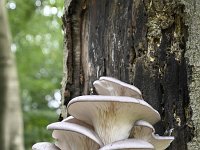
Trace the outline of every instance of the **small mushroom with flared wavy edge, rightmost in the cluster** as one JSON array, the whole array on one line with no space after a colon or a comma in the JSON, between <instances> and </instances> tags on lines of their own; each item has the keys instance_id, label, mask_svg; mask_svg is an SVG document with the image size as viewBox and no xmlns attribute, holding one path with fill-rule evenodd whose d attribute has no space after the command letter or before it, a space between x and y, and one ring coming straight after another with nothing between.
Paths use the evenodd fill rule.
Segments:
<instances>
[{"instance_id":1,"label":"small mushroom with flared wavy edge, rightmost in the cluster","mask_svg":"<svg viewBox=\"0 0 200 150\"><path fill-rule=\"evenodd\" d=\"M172 136L159 136L155 135L154 127L143 120L135 122L131 130L130 138L141 139L151 143L155 150L164 150L174 140Z\"/></svg>"}]
</instances>

